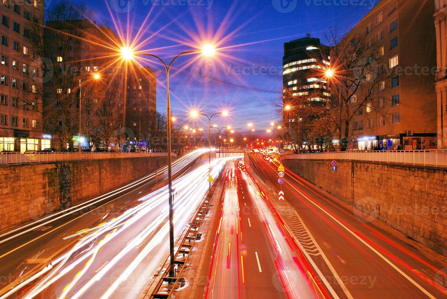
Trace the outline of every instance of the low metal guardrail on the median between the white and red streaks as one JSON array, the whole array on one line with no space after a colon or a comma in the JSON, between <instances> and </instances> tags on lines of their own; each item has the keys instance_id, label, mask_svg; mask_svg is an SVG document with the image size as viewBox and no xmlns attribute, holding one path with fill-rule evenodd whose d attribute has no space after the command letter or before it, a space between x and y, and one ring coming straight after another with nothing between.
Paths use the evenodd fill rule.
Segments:
<instances>
[{"instance_id":1,"label":"low metal guardrail on the median between the white and red streaks","mask_svg":"<svg viewBox=\"0 0 447 299\"><path fill-rule=\"evenodd\" d=\"M207 211L211 202L211 198L214 195L214 192L217 188L217 184L219 183L222 177L222 172L219 173L219 176L211 185L211 190L207 192L205 197L203 198L203 202L198 209L194 219L192 220L186 235L183 237L181 241L181 245L177 250L177 253L174 254L174 276L169 276L170 264L168 264L166 270L160 281L157 283L150 299L167 299L169 298L173 291L175 291L179 286L179 279L181 278L181 273L186 266L186 263L190 257L191 251L194 247L194 243L198 236L198 230L202 226L203 220L207 215ZM169 261L169 258L168 260Z\"/></svg>"}]
</instances>

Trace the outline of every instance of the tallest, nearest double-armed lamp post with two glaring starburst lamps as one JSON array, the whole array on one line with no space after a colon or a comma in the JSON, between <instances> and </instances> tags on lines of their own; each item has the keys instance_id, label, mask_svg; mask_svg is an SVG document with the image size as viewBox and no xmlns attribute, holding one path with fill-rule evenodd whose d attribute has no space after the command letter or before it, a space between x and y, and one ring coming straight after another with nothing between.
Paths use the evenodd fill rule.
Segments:
<instances>
[{"instance_id":1,"label":"tallest, nearest double-armed lamp post with two glaring starburst lamps","mask_svg":"<svg viewBox=\"0 0 447 299\"><path fill-rule=\"evenodd\" d=\"M207 45L203 47L203 49L195 49L191 51L182 52L176 55L169 65L164 63L163 59L158 57L157 55L150 53L142 53L142 52L134 52L130 48L122 47L121 55L125 60L132 59L135 55L143 55L150 56L158 59L164 66L166 70L166 114L167 114L167 136L168 136L168 190L169 190L169 254L170 254L170 267L169 267L169 277L175 277L174 273L174 220L173 220L173 190L172 190L172 144L171 144L171 101L169 94L169 71L171 70L171 66L173 62L182 55L194 54L194 53L202 53L205 56L211 56L215 52L215 48L211 45ZM170 282L169 282L170 285Z\"/></svg>"}]
</instances>

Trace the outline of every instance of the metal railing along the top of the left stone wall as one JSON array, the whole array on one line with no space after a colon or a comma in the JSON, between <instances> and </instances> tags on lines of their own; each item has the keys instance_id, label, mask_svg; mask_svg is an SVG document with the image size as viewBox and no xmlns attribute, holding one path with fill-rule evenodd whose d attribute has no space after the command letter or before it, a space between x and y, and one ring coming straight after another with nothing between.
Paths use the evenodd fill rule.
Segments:
<instances>
[{"instance_id":1,"label":"metal railing along the top of the left stone wall","mask_svg":"<svg viewBox=\"0 0 447 299\"><path fill-rule=\"evenodd\" d=\"M176 154L172 153L174 157ZM27 164L27 163L48 163L67 162L78 160L101 160L101 159L122 159L122 158L150 158L167 157L168 153L127 153L127 152L35 152L0 153L0 164Z\"/></svg>"}]
</instances>

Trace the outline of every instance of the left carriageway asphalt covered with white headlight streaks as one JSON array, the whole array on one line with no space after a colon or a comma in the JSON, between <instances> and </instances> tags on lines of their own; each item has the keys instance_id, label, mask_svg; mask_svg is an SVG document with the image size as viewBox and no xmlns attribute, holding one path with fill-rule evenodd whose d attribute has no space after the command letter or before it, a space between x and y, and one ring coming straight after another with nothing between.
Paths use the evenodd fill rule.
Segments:
<instances>
[{"instance_id":1,"label":"left carriageway asphalt covered with white headlight streaks","mask_svg":"<svg viewBox=\"0 0 447 299\"><path fill-rule=\"evenodd\" d=\"M173 165L176 236L207 190L201 155ZM166 172L0 236L0 298L139 297L168 252L167 187L154 191Z\"/></svg>"}]
</instances>

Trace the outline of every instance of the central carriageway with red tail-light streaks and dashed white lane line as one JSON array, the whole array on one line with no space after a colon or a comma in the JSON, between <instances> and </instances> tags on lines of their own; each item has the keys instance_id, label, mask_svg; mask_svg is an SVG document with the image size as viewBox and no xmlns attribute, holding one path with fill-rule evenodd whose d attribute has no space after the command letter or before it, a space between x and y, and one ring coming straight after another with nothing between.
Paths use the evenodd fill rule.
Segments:
<instances>
[{"instance_id":1,"label":"central carriageway with red tail-light streaks and dashed white lane line","mask_svg":"<svg viewBox=\"0 0 447 299\"><path fill-rule=\"evenodd\" d=\"M324 298L239 161L226 177L205 298Z\"/></svg>"}]
</instances>

